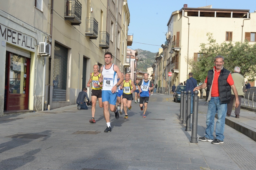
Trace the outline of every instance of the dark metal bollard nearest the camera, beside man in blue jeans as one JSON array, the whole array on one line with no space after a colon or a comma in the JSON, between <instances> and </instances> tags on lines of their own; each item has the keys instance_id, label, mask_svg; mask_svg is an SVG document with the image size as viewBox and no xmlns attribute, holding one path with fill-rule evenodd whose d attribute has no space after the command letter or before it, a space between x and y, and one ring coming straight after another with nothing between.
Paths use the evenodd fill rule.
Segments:
<instances>
[{"instance_id":1,"label":"dark metal bollard nearest the camera, beside man in blue jeans","mask_svg":"<svg viewBox=\"0 0 256 170\"><path fill-rule=\"evenodd\" d=\"M193 116L192 116L192 134L190 143L198 143L197 141L197 119L198 119L198 91L194 91L193 98Z\"/></svg>"}]
</instances>

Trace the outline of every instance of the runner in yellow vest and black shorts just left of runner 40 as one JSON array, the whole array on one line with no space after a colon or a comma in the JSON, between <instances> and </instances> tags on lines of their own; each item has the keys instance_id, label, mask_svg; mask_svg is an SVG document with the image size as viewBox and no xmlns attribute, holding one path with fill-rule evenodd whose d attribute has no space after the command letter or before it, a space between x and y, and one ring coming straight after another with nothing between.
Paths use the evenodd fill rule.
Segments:
<instances>
[{"instance_id":1,"label":"runner in yellow vest and black shorts just left of runner 40","mask_svg":"<svg viewBox=\"0 0 256 170\"><path fill-rule=\"evenodd\" d=\"M92 96L92 118L89 120L90 123L95 123L94 115L95 115L95 107L97 98L99 101L100 108L103 107L102 104L102 98L101 98L101 92L102 92L102 82L99 82L100 78L100 66L98 64L95 64L93 66L93 73L90 74L90 80L87 83L87 87L90 87L90 83L92 82L92 90L91 90L91 96Z\"/></svg>"}]
</instances>

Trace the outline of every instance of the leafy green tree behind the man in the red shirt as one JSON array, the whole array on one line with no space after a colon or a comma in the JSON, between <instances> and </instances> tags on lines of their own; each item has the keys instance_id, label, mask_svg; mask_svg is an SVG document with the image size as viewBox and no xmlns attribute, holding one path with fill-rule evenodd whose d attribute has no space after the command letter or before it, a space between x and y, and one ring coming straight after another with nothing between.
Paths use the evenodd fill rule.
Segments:
<instances>
[{"instance_id":1,"label":"leafy green tree behind the man in the red shirt","mask_svg":"<svg viewBox=\"0 0 256 170\"><path fill-rule=\"evenodd\" d=\"M248 80L255 80L256 77L256 43L249 44L247 40L243 43L229 41L221 44L216 43L212 33L206 34L208 43L200 44L200 57L196 61L190 59L188 64L193 73L193 78L198 83L203 83L207 73L214 66L214 58L217 55L224 57L224 67L233 72L236 66L241 68L240 74Z\"/></svg>"}]
</instances>

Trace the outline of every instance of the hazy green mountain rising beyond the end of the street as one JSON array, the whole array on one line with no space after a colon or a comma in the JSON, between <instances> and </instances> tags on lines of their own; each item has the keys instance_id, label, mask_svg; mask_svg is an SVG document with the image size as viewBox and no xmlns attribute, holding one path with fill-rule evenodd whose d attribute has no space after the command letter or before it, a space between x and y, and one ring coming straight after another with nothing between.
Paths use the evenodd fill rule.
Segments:
<instances>
[{"instance_id":1,"label":"hazy green mountain rising beyond the end of the street","mask_svg":"<svg viewBox=\"0 0 256 170\"><path fill-rule=\"evenodd\" d=\"M154 62L156 62L156 53L152 53L147 50L135 49L138 52L139 61L137 62L138 70L146 72L148 67L151 67ZM143 61L140 61L142 59Z\"/></svg>"}]
</instances>

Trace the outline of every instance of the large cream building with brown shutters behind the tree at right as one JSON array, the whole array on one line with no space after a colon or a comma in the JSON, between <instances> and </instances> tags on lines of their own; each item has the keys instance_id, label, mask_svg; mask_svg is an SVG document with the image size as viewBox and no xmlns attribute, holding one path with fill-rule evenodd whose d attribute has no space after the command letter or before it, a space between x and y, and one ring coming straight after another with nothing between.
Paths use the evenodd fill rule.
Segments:
<instances>
[{"instance_id":1,"label":"large cream building with brown shutters behind the tree at right","mask_svg":"<svg viewBox=\"0 0 256 170\"><path fill-rule=\"evenodd\" d=\"M186 81L190 72L188 59L200 57L200 43L207 43L207 32L213 33L217 43L245 39L255 43L256 13L249 10L213 9L211 5L200 8L183 8L172 12L167 22L170 52L171 84ZM221 29L220 29L221 28ZM170 35L170 38L169 38Z\"/></svg>"}]
</instances>

